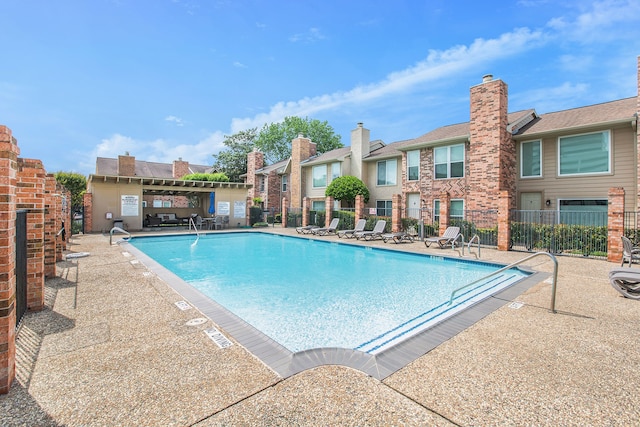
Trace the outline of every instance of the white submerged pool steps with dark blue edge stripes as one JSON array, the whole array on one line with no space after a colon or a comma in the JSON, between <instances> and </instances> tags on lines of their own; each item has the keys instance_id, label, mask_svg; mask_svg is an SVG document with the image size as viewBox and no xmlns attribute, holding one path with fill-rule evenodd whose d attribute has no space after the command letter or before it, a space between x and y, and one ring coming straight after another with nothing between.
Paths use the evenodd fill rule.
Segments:
<instances>
[{"instance_id":1,"label":"white submerged pool steps with dark blue edge stripes","mask_svg":"<svg viewBox=\"0 0 640 427\"><path fill-rule=\"evenodd\" d=\"M453 304L449 305L449 301L446 301L433 309L426 311L365 343L360 344L355 347L354 350L370 354L379 353L397 344L399 341L405 340L418 332L422 332L432 327L444 320L444 318L462 311L463 309L497 293L498 291L509 287L521 278L522 275L514 274L510 271L504 271L500 274L496 274L486 281L478 283L477 286L457 295L453 300Z\"/></svg>"}]
</instances>

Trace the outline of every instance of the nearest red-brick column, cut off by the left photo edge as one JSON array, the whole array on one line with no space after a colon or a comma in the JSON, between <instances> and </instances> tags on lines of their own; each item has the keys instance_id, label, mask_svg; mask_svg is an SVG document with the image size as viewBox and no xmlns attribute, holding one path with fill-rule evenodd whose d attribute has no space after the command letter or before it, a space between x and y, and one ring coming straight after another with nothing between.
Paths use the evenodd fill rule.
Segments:
<instances>
[{"instance_id":1,"label":"nearest red-brick column, cut off by the left photo edge","mask_svg":"<svg viewBox=\"0 0 640 427\"><path fill-rule=\"evenodd\" d=\"M20 154L11 129L0 126L0 394L16 374L16 174Z\"/></svg>"}]
</instances>

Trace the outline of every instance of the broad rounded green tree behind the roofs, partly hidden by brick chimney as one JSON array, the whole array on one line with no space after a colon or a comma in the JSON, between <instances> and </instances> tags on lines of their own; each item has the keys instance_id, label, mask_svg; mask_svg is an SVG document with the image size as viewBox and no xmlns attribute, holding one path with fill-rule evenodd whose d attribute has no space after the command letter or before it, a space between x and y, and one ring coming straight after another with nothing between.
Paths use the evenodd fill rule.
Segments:
<instances>
[{"instance_id":1,"label":"broad rounded green tree behind the roofs, partly hidden by brick chimney","mask_svg":"<svg viewBox=\"0 0 640 427\"><path fill-rule=\"evenodd\" d=\"M258 133L255 145L272 164L291 156L291 140L299 134L316 143L318 154L341 148L340 135L336 135L327 121L300 117L285 117L281 123L264 125Z\"/></svg>"}]
</instances>

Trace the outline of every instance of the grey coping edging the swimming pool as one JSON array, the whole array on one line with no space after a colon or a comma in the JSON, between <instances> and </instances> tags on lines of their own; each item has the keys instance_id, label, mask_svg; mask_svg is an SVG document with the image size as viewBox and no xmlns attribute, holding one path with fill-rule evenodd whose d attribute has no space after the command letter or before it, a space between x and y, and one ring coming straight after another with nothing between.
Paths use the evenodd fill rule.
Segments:
<instances>
[{"instance_id":1,"label":"grey coping edging the swimming pool","mask_svg":"<svg viewBox=\"0 0 640 427\"><path fill-rule=\"evenodd\" d=\"M294 353L195 289L135 246L126 241L120 242L120 244L123 249L142 262L149 271L156 274L193 307L220 326L237 343L283 378L323 365L342 365L357 369L378 380L384 380L487 315L512 302L530 287L550 276L549 273L520 268L531 274L507 288L491 293L465 310L455 313L430 328L376 354L339 347L314 348ZM443 256L443 258L458 259L448 256ZM478 260L478 262L483 261ZM504 266L493 262L491 264Z\"/></svg>"}]
</instances>

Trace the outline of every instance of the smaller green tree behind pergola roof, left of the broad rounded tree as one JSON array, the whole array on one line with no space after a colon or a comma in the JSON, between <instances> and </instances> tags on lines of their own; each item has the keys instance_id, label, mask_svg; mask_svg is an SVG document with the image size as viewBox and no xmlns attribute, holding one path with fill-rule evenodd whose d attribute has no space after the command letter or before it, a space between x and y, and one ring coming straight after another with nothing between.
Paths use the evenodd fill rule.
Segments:
<instances>
[{"instance_id":1,"label":"smaller green tree behind pergola roof, left of the broad rounded tree","mask_svg":"<svg viewBox=\"0 0 640 427\"><path fill-rule=\"evenodd\" d=\"M257 128L225 135L222 142L226 148L214 154L213 167L224 172L231 182L241 182L240 175L247 172L247 154L253 151Z\"/></svg>"}]
</instances>

